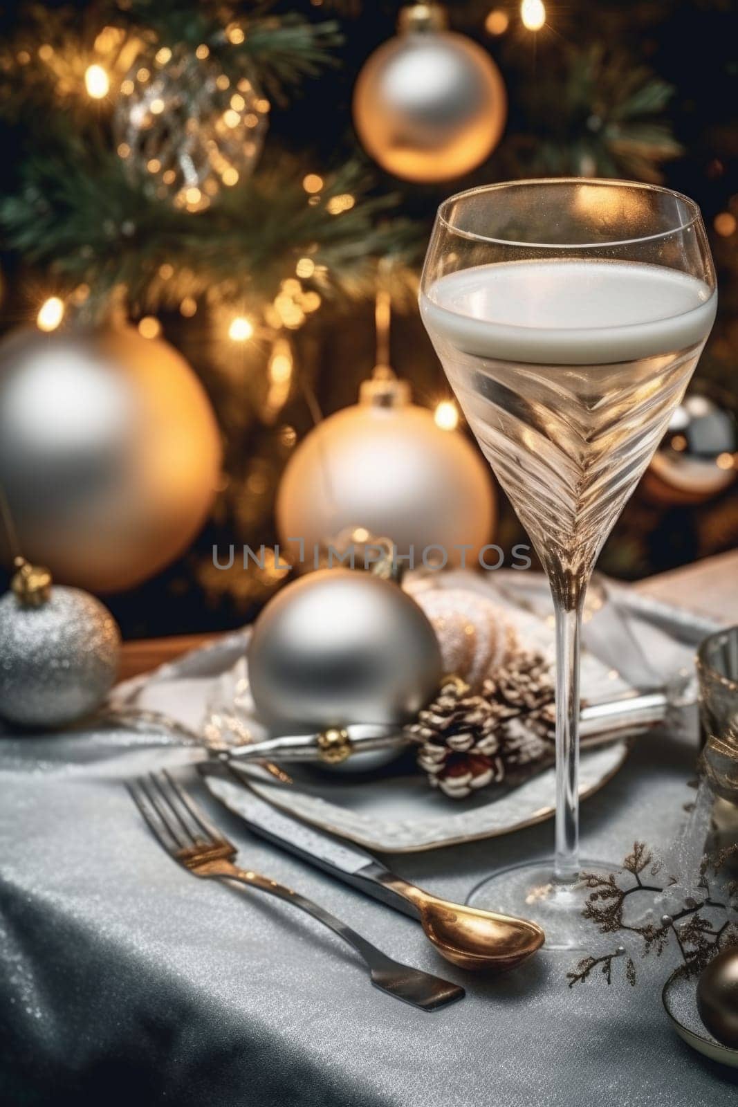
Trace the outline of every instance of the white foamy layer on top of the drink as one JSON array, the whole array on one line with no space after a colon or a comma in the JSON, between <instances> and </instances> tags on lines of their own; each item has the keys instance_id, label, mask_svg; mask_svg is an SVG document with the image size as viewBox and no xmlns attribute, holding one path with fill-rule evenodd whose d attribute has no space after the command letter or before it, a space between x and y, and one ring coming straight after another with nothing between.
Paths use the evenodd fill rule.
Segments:
<instances>
[{"instance_id":1,"label":"white foamy layer on top of the drink","mask_svg":"<svg viewBox=\"0 0 738 1107\"><path fill-rule=\"evenodd\" d=\"M717 294L664 266L615 260L511 261L440 277L420 297L430 334L479 358L612 364L705 340Z\"/></svg>"}]
</instances>

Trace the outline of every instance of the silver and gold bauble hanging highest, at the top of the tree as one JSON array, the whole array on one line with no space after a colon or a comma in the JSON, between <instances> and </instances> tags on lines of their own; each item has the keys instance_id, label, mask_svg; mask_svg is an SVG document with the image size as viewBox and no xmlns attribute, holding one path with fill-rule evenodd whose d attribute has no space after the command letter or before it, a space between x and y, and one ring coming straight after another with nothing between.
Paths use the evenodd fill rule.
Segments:
<instances>
[{"instance_id":1,"label":"silver and gold bauble hanging highest, at the top of the tree","mask_svg":"<svg viewBox=\"0 0 738 1107\"><path fill-rule=\"evenodd\" d=\"M434 4L401 14L401 34L365 63L354 124L366 152L405 180L449 180L495 149L507 117L497 65L481 46L443 28Z\"/></svg>"}]
</instances>

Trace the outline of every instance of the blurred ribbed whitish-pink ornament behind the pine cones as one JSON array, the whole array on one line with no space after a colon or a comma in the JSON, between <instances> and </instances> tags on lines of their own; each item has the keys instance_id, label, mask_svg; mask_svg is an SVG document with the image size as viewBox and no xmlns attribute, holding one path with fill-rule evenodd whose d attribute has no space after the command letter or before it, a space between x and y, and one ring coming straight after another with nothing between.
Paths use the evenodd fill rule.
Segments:
<instances>
[{"instance_id":1,"label":"blurred ribbed whitish-pink ornament behind the pine cones","mask_svg":"<svg viewBox=\"0 0 738 1107\"><path fill-rule=\"evenodd\" d=\"M487 597L462 588L412 590L438 638L444 672L478 687L516 645L512 627Z\"/></svg>"}]
</instances>

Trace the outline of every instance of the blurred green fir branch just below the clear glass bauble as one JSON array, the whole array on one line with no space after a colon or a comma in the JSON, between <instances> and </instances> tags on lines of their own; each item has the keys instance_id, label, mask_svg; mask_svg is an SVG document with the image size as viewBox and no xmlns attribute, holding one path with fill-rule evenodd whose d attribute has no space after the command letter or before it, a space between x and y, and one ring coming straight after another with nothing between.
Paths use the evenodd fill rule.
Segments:
<instances>
[{"instance_id":1,"label":"blurred green fir branch just below the clear glass bauble","mask_svg":"<svg viewBox=\"0 0 738 1107\"><path fill-rule=\"evenodd\" d=\"M388 218L392 197L365 198L357 165L326 177L316 204L302 187L303 168L281 155L193 214L149 199L117 155L67 135L54 154L24 163L18 192L0 200L0 229L66 289L87 284L92 315L115 290L134 309L174 306L184 294L258 304L301 257L312 261L310 282L322 296L363 296L375 283L374 259L410 258L416 231ZM163 280L165 265L179 278Z\"/></svg>"}]
</instances>

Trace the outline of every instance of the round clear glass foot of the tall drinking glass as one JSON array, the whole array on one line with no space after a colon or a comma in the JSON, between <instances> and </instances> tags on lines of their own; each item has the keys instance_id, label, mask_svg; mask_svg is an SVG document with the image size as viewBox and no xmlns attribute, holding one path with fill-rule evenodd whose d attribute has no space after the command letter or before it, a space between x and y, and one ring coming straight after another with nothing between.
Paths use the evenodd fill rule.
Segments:
<instances>
[{"instance_id":1,"label":"round clear glass foot of the tall drinking glass","mask_svg":"<svg viewBox=\"0 0 738 1107\"><path fill-rule=\"evenodd\" d=\"M620 865L607 861L580 861L582 872L620 872ZM558 880L553 860L532 861L500 869L472 888L469 907L537 922L545 933L547 950L589 950L596 929L582 918L588 889L576 878Z\"/></svg>"}]
</instances>

